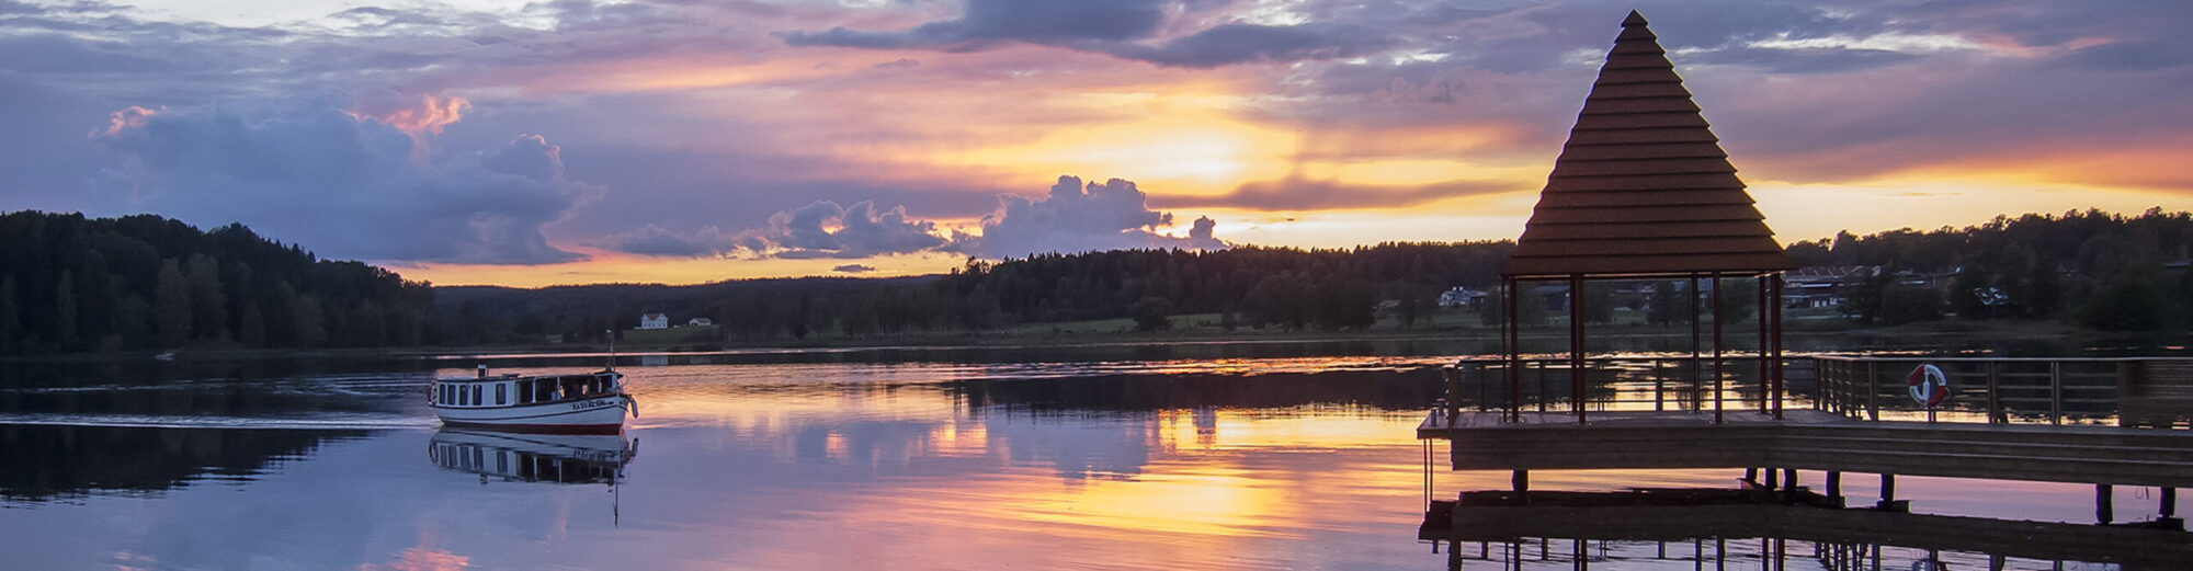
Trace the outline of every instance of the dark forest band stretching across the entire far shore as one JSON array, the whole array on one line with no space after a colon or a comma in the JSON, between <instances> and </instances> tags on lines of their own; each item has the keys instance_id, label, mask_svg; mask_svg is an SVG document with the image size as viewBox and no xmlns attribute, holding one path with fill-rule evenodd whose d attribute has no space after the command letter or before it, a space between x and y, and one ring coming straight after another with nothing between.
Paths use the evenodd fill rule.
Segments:
<instances>
[{"instance_id":1,"label":"dark forest band stretching across the entire far shore","mask_svg":"<svg viewBox=\"0 0 2193 571\"><path fill-rule=\"evenodd\" d=\"M1443 290L1491 290L1513 250L1511 242L1105 250L967 259L930 277L518 290L434 288L360 261L318 259L239 224L202 233L158 215L9 213L0 237L0 354L601 343L605 332L636 327L645 312L717 323L680 338L695 347L1099 318L1162 329L1178 314L1213 314L1226 329L1412 327L1439 310ZM2193 318L2189 248L2193 217L2156 209L1838 233L1794 242L1787 253L1803 268L1862 268L1838 286L1840 312L1853 323L2029 318L2136 332ZM1678 288L1651 290L1651 323L1686 318L1669 310L1686 305ZM1610 318L1610 292L1588 283L1586 307L1601 307L1588 318ZM1548 318L1539 299L1524 301L1526 323Z\"/></svg>"}]
</instances>

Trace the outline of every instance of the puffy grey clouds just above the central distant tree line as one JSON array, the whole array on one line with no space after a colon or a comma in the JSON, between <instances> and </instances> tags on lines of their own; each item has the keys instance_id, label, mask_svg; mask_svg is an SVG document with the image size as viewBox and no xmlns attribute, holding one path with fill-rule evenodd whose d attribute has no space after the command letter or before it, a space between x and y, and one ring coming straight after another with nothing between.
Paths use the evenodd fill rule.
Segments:
<instances>
[{"instance_id":1,"label":"puffy grey clouds just above the central distant tree line","mask_svg":"<svg viewBox=\"0 0 2193 571\"><path fill-rule=\"evenodd\" d=\"M1039 198L1000 195L998 211L982 217L982 233L943 235L936 222L910 220L906 206L877 209L873 202L838 206L829 200L770 215L770 224L739 233L717 226L673 233L643 226L592 246L660 257L757 255L779 259L860 259L906 253L958 253L974 257L1026 257L1035 253L1086 253L1118 248L1219 250L1211 217L1200 217L1186 237L1160 235L1171 213L1151 211L1149 195L1127 180L1088 182L1059 176ZM866 272L838 266L838 272ZM868 268L873 270L873 268Z\"/></svg>"}]
</instances>

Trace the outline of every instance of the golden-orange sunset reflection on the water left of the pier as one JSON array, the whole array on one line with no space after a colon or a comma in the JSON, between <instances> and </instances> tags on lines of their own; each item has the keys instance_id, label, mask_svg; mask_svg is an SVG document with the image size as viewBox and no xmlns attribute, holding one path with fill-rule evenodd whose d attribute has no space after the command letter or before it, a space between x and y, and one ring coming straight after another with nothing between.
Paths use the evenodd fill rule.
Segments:
<instances>
[{"instance_id":1,"label":"golden-orange sunset reflection on the water left of the pier","mask_svg":"<svg viewBox=\"0 0 2193 571\"><path fill-rule=\"evenodd\" d=\"M1195 369L1226 367L1250 365ZM728 428L781 463L917 466L914 474L800 492L794 518L741 529L759 536L721 558L785 569L969 569L985 567L969 560L980 553L1015 567L1270 567L1243 542L1360 531L1366 512L1421 518L1412 411L1029 411L974 406L939 382L787 382L649 376L634 380L634 393L649 411L643 422ZM919 435L890 444L877 426ZM814 439L820 457L803 446ZM1077 446L1103 450L1077 457ZM1114 452L1125 459L1105 457ZM950 461L985 468L936 477L919 468Z\"/></svg>"}]
</instances>

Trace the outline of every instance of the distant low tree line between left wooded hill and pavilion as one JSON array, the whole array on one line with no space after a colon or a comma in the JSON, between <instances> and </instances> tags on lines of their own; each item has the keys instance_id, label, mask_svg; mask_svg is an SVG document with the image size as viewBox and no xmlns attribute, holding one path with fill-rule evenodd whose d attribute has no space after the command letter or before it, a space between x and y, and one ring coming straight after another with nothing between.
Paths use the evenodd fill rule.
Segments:
<instances>
[{"instance_id":1,"label":"distant low tree line between left wooded hill and pavilion","mask_svg":"<svg viewBox=\"0 0 2193 571\"><path fill-rule=\"evenodd\" d=\"M1377 244L1347 250L1105 250L969 259L947 275L897 279L741 279L704 286L439 288L436 314L452 345L603 340L643 312L706 316L715 336L689 343L768 343L816 336L875 338L976 332L1024 323L1219 314L1228 327L1360 329L1375 307L1428 318L1452 283L1498 281L1509 242Z\"/></svg>"}]
</instances>

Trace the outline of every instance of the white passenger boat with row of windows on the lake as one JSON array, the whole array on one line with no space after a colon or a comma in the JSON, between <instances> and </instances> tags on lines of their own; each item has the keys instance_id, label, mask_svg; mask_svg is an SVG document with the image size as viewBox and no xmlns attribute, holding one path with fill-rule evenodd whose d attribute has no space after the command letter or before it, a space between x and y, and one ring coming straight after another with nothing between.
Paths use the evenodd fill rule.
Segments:
<instances>
[{"instance_id":1,"label":"white passenger boat with row of windows on the lake","mask_svg":"<svg viewBox=\"0 0 2193 571\"><path fill-rule=\"evenodd\" d=\"M625 376L614 369L572 376L439 378L428 389L428 406L447 426L480 426L544 433L616 433L625 415L640 415L625 393Z\"/></svg>"}]
</instances>

